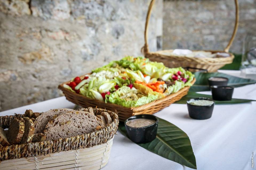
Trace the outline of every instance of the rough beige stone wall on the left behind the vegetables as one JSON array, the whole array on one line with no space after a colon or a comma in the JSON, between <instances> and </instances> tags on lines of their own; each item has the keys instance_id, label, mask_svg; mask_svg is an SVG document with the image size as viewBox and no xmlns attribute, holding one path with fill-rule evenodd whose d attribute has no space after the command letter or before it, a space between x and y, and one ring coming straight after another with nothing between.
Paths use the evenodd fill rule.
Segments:
<instances>
[{"instance_id":1,"label":"rough beige stone wall on the left behind the vegetables","mask_svg":"<svg viewBox=\"0 0 256 170\"><path fill-rule=\"evenodd\" d=\"M142 55L149 2L1 0L0 111L61 96L58 84ZM156 50L162 1L153 14L149 42Z\"/></svg>"}]
</instances>

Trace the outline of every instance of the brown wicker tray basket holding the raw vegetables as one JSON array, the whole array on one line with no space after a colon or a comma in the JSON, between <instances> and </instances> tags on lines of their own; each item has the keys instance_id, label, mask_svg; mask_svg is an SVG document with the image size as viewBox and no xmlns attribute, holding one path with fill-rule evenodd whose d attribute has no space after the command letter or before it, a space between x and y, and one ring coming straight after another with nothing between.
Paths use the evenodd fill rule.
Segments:
<instances>
[{"instance_id":1,"label":"brown wicker tray basket holding the raw vegetables","mask_svg":"<svg viewBox=\"0 0 256 170\"><path fill-rule=\"evenodd\" d=\"M84 76L81 76L80 78L83 79ZM189 91L189 88L190 88L190 86L186 86L181 90L179 90L178 92L170 94L165 98L154 100L150 103L143 104L138 107L127 108L127 107L123 107L121 105L117 105L113 103L105 103L104 101L101 101L101 100L92 99L92 98L85 97L83 95L71 92L70 90L63 87L63 85L67 83L70 83L70 82L62 83L58 87L60 90L62 90L67 100L77 105L80 105L82 107L97 107L97 108L107 109L113 112L117 111L118 118L120 121L125 121L127 118L137 114L154 114L162 110L163 108L169 106L170 104L174 103L175 101L180 100L183 96L187 95L187 92ZM195 83L195 78L191 82L191 84L194 84L194 83Z\"/></svg>"}]
</instances>

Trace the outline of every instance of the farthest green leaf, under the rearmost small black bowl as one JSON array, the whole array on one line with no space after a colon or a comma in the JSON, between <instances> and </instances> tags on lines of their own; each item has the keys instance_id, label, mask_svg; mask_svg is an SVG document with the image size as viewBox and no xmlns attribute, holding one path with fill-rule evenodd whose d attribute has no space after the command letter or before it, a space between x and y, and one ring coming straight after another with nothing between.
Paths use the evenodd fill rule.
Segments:
<instances>
[{"instance_id":1,"label":"farthest green leaf, under the rearmost small black bowl","mask_svg":"<svg viewBox=\"0 0 256 170\"><path fill-rule=\"evenodd\" d=\"M224 74L224 73L196 72L194 74L195 74L196 82L193 86L190 87L190 89L189 89L190 92L210 91L210 88L208 85L208 78L213 77L213 76L228 78L229 79L228 85L233 86L233 87L241 87L241 86L245 86L248 84L256 83L256 80L239 78L239 77L235 77L235 76Z\"/></svg>"}]
</instances>

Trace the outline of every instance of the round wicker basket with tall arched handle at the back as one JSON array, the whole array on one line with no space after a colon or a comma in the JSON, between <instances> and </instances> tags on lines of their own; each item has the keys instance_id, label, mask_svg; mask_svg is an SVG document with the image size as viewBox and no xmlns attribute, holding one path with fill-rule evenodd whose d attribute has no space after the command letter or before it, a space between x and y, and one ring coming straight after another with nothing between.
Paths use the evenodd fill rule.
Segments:
<instances>
[{"instance_id":1,"label":"round wicker basket with tall arched handle at the back","mask_svg":"<svg viewBox=\"0 0 256 170\"><path fill-rule=\"evenodd\" d=\"M237 32L238 28L238 20L239 20L239 10L238 10L238 0L235 1L235 26L234 31L232 34L231 39L229 40L228 45L224 49L224 51L212 51L212 50L206 50L208 52L217 53L217 52L229 52L229 48L231 44L234 41L235 34ZM148 47L148 24L149 19L151 15L151 9L154 4L155 0L152 0L149 5L149 9L147 12L147 18L146 18L146 24L145 24L145 45L142 47L142 51L145 55L145 57L149 58L151 61L157 61L157 62L163 62L165 66L174 68L174 67L194 67L198 69L206 69L208 72L216 72L221 67L225 66L226 64L232 63L234 59L234 55L232 53L229 53L229 57L222 57L222 58L196 58L196 57L177 57L177 56L171 56L168 53L171 53L173 50L162 50L157 52L149 52Z\"/></svg>"}]
</instances>

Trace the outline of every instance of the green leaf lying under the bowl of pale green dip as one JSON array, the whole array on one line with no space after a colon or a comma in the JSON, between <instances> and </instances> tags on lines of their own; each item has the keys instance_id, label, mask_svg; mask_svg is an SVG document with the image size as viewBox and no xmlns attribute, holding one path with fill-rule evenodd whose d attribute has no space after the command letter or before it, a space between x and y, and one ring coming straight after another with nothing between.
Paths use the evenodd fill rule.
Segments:
<instances>
[{"instance_id":1,"label":"green leaf lying under the bowl of pale green dip","mask_svg":"<svg viewBox=\"0 0 256 170\"><path fill-rule=\"evenodd\" d=\"M186 96L182 97L181 100L176 101L175 103L176 104L186 104L187 100L198 98L198 97L206 97L206 98L212 99L211 95L199 94L199 93L195 93L195 92L188 92L188 94ZM232 99L229 101L218 101L218 100L214 100L214 101L215 101L215 104L239 104L239 103L247 103L247 102L256 101L256 100Z\"/></svg>"}]
</instances>

